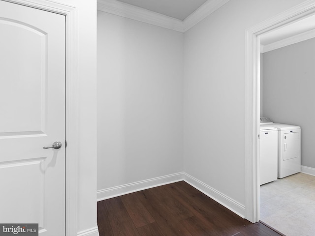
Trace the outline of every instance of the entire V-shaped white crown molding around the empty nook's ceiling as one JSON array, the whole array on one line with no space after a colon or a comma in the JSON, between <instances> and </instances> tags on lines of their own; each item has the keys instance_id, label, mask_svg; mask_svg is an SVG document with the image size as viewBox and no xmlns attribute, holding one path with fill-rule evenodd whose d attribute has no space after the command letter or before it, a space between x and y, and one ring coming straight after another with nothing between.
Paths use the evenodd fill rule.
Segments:
<instances>
[{"instance_id":1,"label":"entire V-shaped white crown molding around the empty nook's ceiling","mask_svg":"<svg viewBox=\"0 0 315 236\"><path fill-rule=\"evenodd\" d=\"M208 0L184 21L117 0L97 0L97 10L184 33L228 1Z\"/></svg>"}]
</instances>

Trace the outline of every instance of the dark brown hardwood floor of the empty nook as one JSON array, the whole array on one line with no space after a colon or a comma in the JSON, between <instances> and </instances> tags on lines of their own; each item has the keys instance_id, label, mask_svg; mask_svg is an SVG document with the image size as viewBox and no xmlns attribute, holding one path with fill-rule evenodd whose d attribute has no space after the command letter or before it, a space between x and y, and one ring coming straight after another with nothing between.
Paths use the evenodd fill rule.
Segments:
<instances>
[{"instance_id":1,"label":"dark brown hardwood floor of the empty nook","mask_svg":"<svg viewBox=\"0 0 315 236\"><path fill-rule=\"evenodd\" d=\"M100 201L97 224L99 236L281 236L184 181Z\"/></svg>"}]
</instances>

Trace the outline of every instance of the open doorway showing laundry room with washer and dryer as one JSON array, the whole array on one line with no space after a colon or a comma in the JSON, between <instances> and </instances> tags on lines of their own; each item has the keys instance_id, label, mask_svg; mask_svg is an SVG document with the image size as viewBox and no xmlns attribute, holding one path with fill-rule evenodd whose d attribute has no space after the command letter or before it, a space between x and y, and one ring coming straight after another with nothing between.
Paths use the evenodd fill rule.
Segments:
<instances>
[{"instance_id":1,"label":"open doorway showing laundry room with washer and dryer","mask_svg":"<svg viewBox=\"0 0 315 236\"><path fill-rule=\"evenodd\" d=\"M306 220L315 217L315 176L301 166L312 167L313 156L309 132L315 128L311 119L315 99L314 22L315 16L310 16L260 36L260 117L273 121L260 125L260 221L287 236L313 235L315 231ZM283 35L287 38L282 39ZM269 39L268 43L268 38L280 41ZM289 136L295 137L293 142Z\"/></svg>"}]
</instances>

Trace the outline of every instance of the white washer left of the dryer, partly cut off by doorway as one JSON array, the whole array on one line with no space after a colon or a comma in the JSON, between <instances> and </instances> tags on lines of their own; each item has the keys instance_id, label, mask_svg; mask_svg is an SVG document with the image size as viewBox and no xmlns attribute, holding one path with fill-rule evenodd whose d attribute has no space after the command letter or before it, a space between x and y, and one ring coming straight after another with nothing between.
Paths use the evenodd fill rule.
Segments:
<instances>
[{"instance_id":1,"label":"white washer left of the dryer, partly cut off by doorway","mask_svg":"<svg viewBox=\"0 0 315 236\"><path fill-rule=\"evenodd\" d=\"M275 181L278 177L278 129L271 124L270 118L260 119L260 185Z\"/></svg>"}]
</instances>

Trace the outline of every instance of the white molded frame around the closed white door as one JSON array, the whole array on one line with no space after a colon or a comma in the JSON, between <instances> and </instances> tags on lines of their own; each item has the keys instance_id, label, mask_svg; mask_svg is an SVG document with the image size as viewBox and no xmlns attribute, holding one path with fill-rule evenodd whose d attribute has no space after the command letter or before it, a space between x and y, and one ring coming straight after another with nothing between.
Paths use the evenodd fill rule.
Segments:
<instances>
[{"instance_id":1,"label":"white molded frame around the closed white door","mask_svg":"<svg viewBox=\"0 0 315 236\"><path fill-rule=\"evenodd\" d=\"M76 7L48 0L3 0L24 6L58 13L65 16L66 24L66 118L65 118L65 235L77 235L77 204L78 204L78 148L77 130L79 94L77 79L77 9Z\"/></svg>"}]
</instances>

